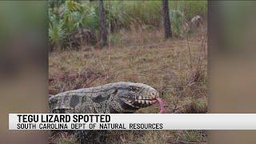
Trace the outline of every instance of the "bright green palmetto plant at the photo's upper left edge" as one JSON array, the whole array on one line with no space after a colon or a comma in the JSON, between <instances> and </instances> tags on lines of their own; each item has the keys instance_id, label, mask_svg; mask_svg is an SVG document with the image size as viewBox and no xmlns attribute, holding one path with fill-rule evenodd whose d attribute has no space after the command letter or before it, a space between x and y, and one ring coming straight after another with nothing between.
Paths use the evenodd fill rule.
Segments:
<instances>
[{"instance_id":1,"label":"bright green palmetto plant at the photo's upper left edge","mask_svg":"<svg viewBox=\"0 0 256 144\"><path fill-rule=\"evenodd\" d=\"M57 10L57 12L56 12ZM67 34L83 26L83 7L80 3L66 1L49 9L49 38L54 48L60 48Z\"/></svg>"}]
</instances>

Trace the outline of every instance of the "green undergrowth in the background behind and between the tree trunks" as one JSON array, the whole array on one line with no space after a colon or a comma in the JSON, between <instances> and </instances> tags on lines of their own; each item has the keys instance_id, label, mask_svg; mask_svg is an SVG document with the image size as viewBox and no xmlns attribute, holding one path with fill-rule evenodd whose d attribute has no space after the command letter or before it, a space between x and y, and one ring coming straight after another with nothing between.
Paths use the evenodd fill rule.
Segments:
<instances>
[{"instance_id":1,"label":"green undergrowth in the background behind and between the tree trunks","mask_svg":"<svg viewBox=\"0 0 256 144\"><path fill-rule=\"evenodd\" d=\"M154 29L162 26L162 1L104 1L108 41L117 42L120 30ZM184 26L200 15L206 19L206 1L170 1L170 20L175 37L183 37ZM64 39L78 29L88 29L98 37L98 1L49 1L50 46L60 49Z\"/></svg>"}]
</instances>

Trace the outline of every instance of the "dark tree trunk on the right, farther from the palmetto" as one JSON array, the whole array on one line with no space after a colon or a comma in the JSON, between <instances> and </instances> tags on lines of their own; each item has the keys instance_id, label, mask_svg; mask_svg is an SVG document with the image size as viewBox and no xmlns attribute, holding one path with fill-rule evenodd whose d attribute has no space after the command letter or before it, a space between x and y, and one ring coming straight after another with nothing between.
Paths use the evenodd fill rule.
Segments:
<instances>
[{"instance_id":1,"label":"dark tree trunk on the right, farther from the palmetto","mask_svg":"<svg viewBox=\"0 0 256 144\"><path fill-rule=\"evenodd\" d=\"M170 14L168 0L162 0L162 16L163 16L163 26L165 29L165 38L172 37L172 32L170 28Z\"/></svg>"}]
</instances>

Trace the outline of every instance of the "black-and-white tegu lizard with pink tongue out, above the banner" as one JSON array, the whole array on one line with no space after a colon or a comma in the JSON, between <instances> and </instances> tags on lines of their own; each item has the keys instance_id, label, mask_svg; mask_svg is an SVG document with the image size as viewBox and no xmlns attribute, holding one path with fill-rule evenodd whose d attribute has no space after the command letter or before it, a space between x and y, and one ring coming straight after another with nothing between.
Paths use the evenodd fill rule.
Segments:
<instances>
[{"instance_id":1,"label":"black-and-white tegu lizard with pink tongue out, above the banner","mask_svg":"<svg viewBox=\"0 0 256 144\"><path fill-rule=\"evenodd\" d=\"M159 102L158 91L151 86L134 82L116 82L103 86L70 90L49 98L50 113L122 114Z\"/></svg>"}]
</instances>

